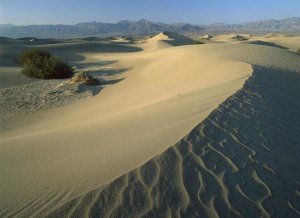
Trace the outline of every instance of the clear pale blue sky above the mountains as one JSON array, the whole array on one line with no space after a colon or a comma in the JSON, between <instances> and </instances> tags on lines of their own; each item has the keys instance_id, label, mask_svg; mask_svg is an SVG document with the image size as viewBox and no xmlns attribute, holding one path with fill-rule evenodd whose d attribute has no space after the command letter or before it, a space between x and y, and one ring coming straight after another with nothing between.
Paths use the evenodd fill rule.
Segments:
<instances>
[{"instance_id":1,"label":"clear pale blue sky above the mountains","mask_svg":"<svg viewBox=\"0 0 300 218\"><path fill-rule=\"evenodd\" d=\"M300 0L0 0L0 23L76 24L147 19L242 23L300 17Z\"/></svg>"}]
</instances>

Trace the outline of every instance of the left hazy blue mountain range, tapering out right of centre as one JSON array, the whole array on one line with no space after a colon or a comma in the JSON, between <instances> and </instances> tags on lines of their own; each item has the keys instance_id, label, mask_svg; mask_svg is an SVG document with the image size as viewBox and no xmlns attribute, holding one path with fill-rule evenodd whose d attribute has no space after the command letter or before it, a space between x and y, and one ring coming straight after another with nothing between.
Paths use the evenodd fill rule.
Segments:
<instances>
[{"instance_id":1,"label":"left hazy blue mountain range, tapering out right of centre","mask_svg":"<svg viewBox=\"0 0 300 218\"><path fill-rule=\"evenodd\" d=\"M20 38L73 38L84 36L147 35L162 31L184 32L201 31L200 26L190 24L172 25L155 23L148 20L120 21L116 24L85 22L75 25L0 25L0 36Z\"/></svg>"}]
</instances>

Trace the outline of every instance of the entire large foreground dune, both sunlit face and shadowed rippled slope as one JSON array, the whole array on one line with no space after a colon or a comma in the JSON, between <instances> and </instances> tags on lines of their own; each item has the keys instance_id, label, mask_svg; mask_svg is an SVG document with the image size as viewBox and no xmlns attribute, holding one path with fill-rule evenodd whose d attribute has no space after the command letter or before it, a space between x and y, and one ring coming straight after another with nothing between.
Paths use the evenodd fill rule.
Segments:
<instances>
[{"instance_id":1,"label":"entire large foreground dune, both sunlit face and shadowed rippled slope","mask_svg":"<svg viewBox=\"0 0 300 218\"><path fill-rule=\"evenodd\" d=\"M81 46L123 79L1 126L2 216L299 216L299 56L168 40Z\"/></svg>"}]
</instances>

